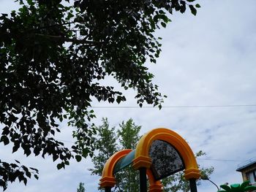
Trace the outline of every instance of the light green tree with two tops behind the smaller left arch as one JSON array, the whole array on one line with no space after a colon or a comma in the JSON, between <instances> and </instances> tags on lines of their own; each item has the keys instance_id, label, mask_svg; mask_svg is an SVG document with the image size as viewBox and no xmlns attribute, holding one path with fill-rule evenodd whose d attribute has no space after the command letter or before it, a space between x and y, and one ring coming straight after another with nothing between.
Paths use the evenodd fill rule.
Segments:
<instances>
[{"instance_id":1,"label":"light green tree with two tops behind the smaller left arch","mask_svg":"<svg viewBox=\"0 0 256 192\"><path fill-rule=\"evenodd\" d=\"M132 119L124 121L119 124L119 129L115 127L109 128L107 118L102 119L102 126L97 127L99 134L97 135L97 151L98 153L92 158L94 164L93 169L89 169L91 174L102 175L102 169L105 162L110 158L111 155L122 149L134 149L139 137L140 126L136 126ZM124 170L116 173L117 184L114 191L129 191L137 192L139 177L138 172L135 172L132 167L127 167ZM102 190L103 191L103 190Z\"/></svg>"}]
</instances>

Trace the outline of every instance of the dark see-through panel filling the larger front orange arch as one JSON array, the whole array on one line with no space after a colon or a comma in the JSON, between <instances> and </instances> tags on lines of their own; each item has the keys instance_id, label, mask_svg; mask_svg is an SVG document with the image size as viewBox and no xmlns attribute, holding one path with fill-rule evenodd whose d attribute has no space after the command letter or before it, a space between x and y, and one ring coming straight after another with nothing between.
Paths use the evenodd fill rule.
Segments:
<instances>
[{"instance_id":1,"label":"dark see-through panel filling the larger front orange arch","mask_svg":"<svg viewBox=\"0 0 256 192\"><path fill-rule=\"evenodd\" d=\"M154 140L149 150L152 159L151 170L155 180L184 169L184 163L177 150L168 142Z\"/></svg>"}]
</instances>

